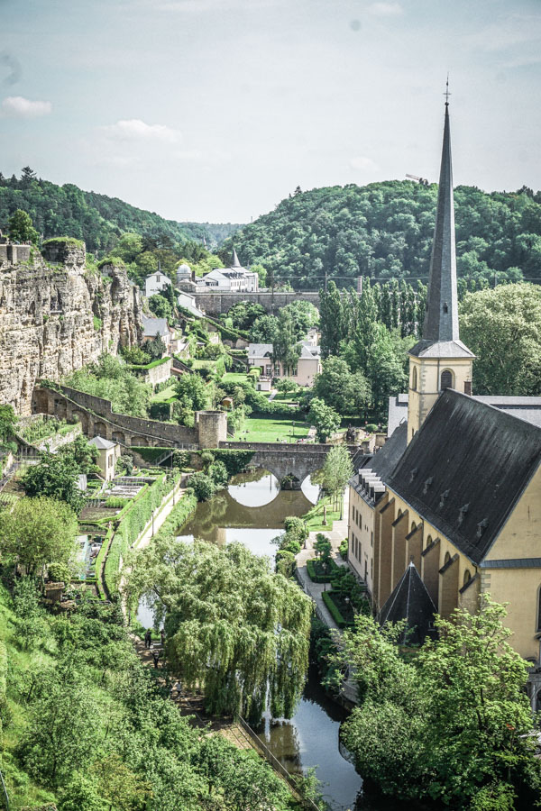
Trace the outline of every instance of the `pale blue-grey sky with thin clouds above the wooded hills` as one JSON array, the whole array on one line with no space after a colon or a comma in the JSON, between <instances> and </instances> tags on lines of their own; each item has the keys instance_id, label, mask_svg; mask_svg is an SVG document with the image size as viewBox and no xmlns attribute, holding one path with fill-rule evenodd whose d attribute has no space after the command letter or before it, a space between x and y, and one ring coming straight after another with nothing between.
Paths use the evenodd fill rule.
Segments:
<instances>
[{"instance_id":1,"label":"pale blue-grey sky with thin clouds above the wooded hills","mask_svg":"<svg viewBox=\"0 0 541 811\"><path fill-rule=\"evenodd\" d=\"M300 186L541 188L541 0L0 0L0 171L179 221Z\"/></svg>"}]
</instances>

